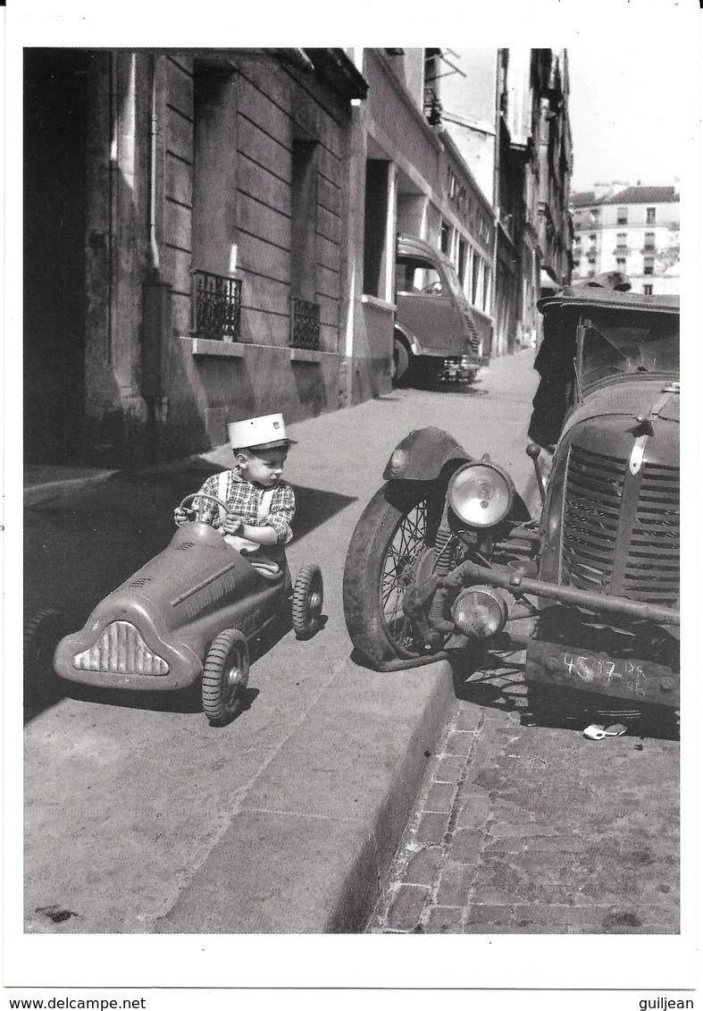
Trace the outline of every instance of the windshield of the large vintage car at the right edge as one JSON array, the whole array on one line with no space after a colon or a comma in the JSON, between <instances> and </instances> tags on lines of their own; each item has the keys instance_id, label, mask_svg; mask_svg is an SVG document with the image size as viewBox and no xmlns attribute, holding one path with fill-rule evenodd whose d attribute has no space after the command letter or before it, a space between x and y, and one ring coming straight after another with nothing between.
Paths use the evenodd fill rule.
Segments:
<instances>
[{"instance_id":1,"label":"windshield of the large vintage car at the right edge","mask_svg":"<svg viewBox=\"0 0 703 1011\"><path fill-rule=\"evenodd\" d=\"M645 372L679 373L679 317L591 312L582 318L581 382Z\"/></svg>"}]
</instances>

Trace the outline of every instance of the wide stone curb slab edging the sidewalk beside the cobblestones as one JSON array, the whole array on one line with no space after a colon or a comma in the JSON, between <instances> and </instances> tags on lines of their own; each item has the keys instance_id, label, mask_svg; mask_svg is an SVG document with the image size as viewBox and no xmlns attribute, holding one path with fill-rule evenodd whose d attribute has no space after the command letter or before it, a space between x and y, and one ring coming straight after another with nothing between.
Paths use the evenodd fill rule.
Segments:
<instances>
[{"instance_id":1,"label":"wide stone curb slab edging the sidewalk beside the cobblestones","mask_svg":"<svg viewBox=\"0 0 703 1011\"><path fill-rule=\"evenodd\" d=\"M363 932L454 702L446 661L343 661L154 932Z\"/></svg>"}]
</instances>

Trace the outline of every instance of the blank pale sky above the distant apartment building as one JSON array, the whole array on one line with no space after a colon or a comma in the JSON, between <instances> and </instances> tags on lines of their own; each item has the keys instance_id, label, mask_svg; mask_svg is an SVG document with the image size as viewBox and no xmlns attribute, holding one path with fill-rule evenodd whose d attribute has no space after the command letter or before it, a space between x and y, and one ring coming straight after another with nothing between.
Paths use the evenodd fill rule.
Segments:
<instances>
[{"instance_id":1,"label":"blank pale sky above the distant apartment building","mask_svg":"<svg viewBox=\"0 0 703 1011\"><path fill-rule=\"evenodd\" d=\"M695 94L672 87L681 76L681 50L574 44L568 55L572 190L598 182L673 185L683 174L696 104Z\"/></svg>"}]
</instances>

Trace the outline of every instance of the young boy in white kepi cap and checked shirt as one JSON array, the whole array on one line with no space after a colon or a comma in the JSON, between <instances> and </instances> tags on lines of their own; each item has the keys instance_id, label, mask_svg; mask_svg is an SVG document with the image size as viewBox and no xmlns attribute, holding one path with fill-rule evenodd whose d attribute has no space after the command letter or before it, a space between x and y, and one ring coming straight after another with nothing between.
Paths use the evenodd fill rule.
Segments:
<instances>
[{"instance_id":1,"label":"young boy in white kepi cap and checked shirt","mask_svg":"<svg viewBox=\"0 0 703 1011\"><path fill-rule=\"evenodd\" d=\"M288 544L293 538L295 495L291 486L281 480L281 472L288 447L295 440L286 436L283 415L232 422L227 429L235 466L208 477L200 488L201 493L214 495L226 503L226 517L222 520L209 499L202 502L196 499L194 505L199 504L203 519L219 529L226 543L243 554L259 552L263 545ZM176 525L186 523L193 512L178 507L174 511ZM257 557L256 564L271 565L262 555Z\"/></svg>"}]
</instances>

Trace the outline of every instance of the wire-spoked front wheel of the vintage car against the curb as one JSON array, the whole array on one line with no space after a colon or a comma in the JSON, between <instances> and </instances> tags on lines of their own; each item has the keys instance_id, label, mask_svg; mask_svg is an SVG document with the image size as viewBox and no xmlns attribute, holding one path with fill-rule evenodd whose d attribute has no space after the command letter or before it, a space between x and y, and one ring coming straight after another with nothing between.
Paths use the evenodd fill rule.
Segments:
<instances>
[{"instance_id":1,"label":"wire-spoked front wheel of the vintage car against the curb","mask_svg":"<svg viewBox=\"0 0 703 1011\"><path fill-rule=\"evenodd\" d=\"M442 505L437 484L386 484L352 536L344 563L344 619L356 649L377 670L428 653L402 602L414 566L434 544Z\"/></svg>"}]
</instances>

